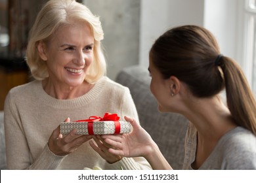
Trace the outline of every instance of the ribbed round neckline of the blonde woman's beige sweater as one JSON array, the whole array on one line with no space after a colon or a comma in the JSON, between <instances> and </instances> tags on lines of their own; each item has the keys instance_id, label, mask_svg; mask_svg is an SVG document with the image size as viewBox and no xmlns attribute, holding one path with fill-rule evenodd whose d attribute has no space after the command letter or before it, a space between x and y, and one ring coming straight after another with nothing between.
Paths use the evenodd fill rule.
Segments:
<instances>
[{"instance_id":1,"label":"ribbed round neckline of the blonde woman's beige sweater","mask_svg":"<svg viewBox=\"0 0 256 183\"><path fill-rule=\"evenodd\" d=\"M98 82L95 83L93 88L89 90L89 92L81 95L80 97L76 97L75 99L56 99L49 95L43 90L42 81L37 82L37 91L39 100L42 103L45 103L54 108L77 108L82 107L86 104L91 103L96 97L102 92L102 88L106 84L106 76L100 78Z\"/></svg>"}]
</instances>

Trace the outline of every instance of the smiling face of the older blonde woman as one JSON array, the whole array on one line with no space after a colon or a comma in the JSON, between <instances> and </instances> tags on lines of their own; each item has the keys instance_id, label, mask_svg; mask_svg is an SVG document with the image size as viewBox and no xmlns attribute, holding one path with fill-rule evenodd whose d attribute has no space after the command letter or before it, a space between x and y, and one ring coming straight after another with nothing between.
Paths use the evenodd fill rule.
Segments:
<instances>
[{"instance_id":1,"label":"smiling face of the older blonde woman","mask_svg":"<svg viewBox=\"0 0 256 183\"><path fill-rule=\"evenodd\" d=\"M93 61L94 37L89 25L62 25L47 44L44 56L49 80L62 86L79 86Z\"/></svg>"}]
</instances>

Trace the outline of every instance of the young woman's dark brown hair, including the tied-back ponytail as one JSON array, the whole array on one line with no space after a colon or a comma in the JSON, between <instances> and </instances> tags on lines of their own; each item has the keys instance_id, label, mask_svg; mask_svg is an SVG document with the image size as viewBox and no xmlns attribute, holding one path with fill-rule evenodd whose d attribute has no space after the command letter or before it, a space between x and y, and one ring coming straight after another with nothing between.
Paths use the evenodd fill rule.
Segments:
<instances>
[{"instance_id":1,"label":"young woman's dark brown hair, including the tied-back ponytail","mask_svg":"<svg viewBox=\"0 0 256 183\"><path fill-rule=\"evenodd\" d=\"M161 35L150 58L163 78L176 76L196 97L212 97L226 88L226 102L236 124L256 135L256 102L239 65L221 52L207 29L184 25ZM219 61L216 63L216 59Z\"/></svg>"}]
</instances>

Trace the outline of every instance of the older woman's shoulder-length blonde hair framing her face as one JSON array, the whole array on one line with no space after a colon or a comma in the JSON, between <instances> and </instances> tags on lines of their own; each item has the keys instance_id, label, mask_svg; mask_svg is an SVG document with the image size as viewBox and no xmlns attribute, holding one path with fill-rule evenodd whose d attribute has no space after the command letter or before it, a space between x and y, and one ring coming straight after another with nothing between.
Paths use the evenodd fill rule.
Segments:
<instances>
[{"instance_id":1,"label":"older woman's shoulder-length blonde hair framing her face","mask_svg":"<svg viewBox=\"0 0 256 183\"><path fill-rule=\"evenodd\" d=\"M87 70L85 80L95 83L106 74L106 60L100 42L104 33L99 17L93 15L89 8L75 0L51 0L37 14L28 39L26 61L35 79L43 80L49 76L46 62L38 54L37 44L39 41L47 42L60 25L71 25L73 20L88 24L95 39L94 60Z\"/></svg>"}]
</instances>

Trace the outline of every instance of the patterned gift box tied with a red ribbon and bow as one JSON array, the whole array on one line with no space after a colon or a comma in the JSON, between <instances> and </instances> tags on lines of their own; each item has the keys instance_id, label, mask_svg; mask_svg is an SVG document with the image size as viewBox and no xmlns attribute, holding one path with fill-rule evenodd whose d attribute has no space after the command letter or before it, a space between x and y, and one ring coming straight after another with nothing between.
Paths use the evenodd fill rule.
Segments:
<instances>
[{"instance_id":1,"label":"patterned gift box tied with a red ribbon and bow","mask_svg":"<svg viewBox=\"0 0 256 183\"><path fill-rule=\"evenodd\" d=\"M129 122L119 121L117 114L106 113L103 118L91 116L87 120L60 123L62 135L67 135L72 129L77 129L76 135L107 135L130 133L132 127Z\"/></svg>"}]
</instances>

